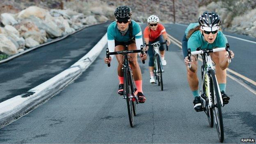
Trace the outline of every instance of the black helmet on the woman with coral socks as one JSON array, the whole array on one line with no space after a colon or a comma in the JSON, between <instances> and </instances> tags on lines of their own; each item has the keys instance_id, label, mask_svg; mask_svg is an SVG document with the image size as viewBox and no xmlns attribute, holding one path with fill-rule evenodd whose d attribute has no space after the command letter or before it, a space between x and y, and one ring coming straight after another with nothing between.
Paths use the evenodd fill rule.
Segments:
<instances>
[{"instance_id":1,"label":"black helmet on the woman with coral socks","mask_svg":"<svg viewBox=\"0 0 256 144\"><path fill-rule=\"evenodd\" d=\"M114 15L117 20L127 20L130 19L130 17L132 16L132 10L130 9L130 7L127 6L120 6L116 8Z\"/></svg>"}]
</instances>

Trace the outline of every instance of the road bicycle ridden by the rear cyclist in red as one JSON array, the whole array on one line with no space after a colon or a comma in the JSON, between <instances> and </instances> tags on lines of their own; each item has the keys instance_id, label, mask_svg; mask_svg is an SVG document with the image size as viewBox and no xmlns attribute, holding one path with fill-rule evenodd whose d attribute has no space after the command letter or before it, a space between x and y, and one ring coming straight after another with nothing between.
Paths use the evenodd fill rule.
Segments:
<instances>
[{"instance_id":1,"label":"road bicycle ridden by the rear cyclist in red","mask_svg":"<svg viewBox=\"0 0 256 144\"><path fill-rule=\"evenodd\" d=\"M146 44L146 41L144 41L145 46L153 46L153 49L155 51L154 55L154 77L158 81L158 86L161 85L161 90L163 90L163 80L162 80L162 73L164 72L164 69L162 68L162 62L160 59L160 54L159 54L159 48L160 45L166 44L166 50L168 50L168 43L167 39L165 39L165 42L155 42L151 44Z\"/></svg>"}]
</instances>

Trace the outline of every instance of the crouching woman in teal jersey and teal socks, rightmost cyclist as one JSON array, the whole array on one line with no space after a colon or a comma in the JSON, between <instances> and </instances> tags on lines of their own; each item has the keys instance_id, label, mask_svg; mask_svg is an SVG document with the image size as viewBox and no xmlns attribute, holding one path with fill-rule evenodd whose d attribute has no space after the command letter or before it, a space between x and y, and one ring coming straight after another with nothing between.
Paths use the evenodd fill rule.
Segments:
<instances>
[{"instance_id":1,"label":"crouching woman in teal jersey and teal socks, rightmost cyclist","mask_svg":"<svg viewBox=\"0 0 256 144\"><path fill-rule=\"evenodd\" d=\"M215 12L205 11L198 20L198 23L191 23L185 30L182 40L182 50L185 65L191 64L191 68L187 68L187 81L194 95L194 109L198 112L202 110L201 99L198 91L197 78L197 55L193 55L192 62L187 57L187 48L191 51L200 49L213 49L215 47L226 47L228 42L224 34L219 30L221 18ZM231 58L234 53L231 52ZM219 89L222 94L224 104L229 103L229 96L226 95L226 68L229 66L228 59L231 59L226 51L212 53L215 62L216 77L219 83ZM187 66L186 66L187 67Z\"/></svg>"}]
</instances>

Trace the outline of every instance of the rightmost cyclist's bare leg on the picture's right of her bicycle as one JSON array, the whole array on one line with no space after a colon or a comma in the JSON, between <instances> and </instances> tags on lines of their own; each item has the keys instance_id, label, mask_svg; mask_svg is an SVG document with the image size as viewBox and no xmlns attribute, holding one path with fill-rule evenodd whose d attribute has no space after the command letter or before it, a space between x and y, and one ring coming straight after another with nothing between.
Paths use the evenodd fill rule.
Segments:
<instances>
[{"instance_id":1,"label":"rightmost cyclist's bare leg on the picture's right of her bicycle","mask_svg":"<svg viewBox=\"0 0 256 144\"><path fill-rule=\"evenodd\" d=\"M223 53L225 52L215 52L212 54L212 59L216 64L215 72L219 84L226 84L226 69L222 70L220 66L220 62L222 62L222 59L225 58Z\"/></svg>"}]
</instances>

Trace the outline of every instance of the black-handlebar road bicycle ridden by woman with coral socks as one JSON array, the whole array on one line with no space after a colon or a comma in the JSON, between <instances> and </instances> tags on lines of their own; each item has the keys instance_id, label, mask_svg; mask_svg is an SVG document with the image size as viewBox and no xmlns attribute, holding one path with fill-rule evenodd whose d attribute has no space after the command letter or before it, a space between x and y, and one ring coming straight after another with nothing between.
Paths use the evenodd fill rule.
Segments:
<instances>
[{"instance_id":1,"label":"black-handlebar road bicycle ridden by woman with coral socks","mask_svg":"<svg viewBox=\"0 0 256 144\"><path fill-rule=\"evenodd\" d=\"M133 116L136 116L136 104L139 103L137 95L135 95L136 86L135 82L133 79L133 72L132 69L130 68L129 65L129 58L130 56L128 53L142 53L144 54L143 51L143 46L141 45L140 50L128 50L128 46L125 46L125 50L123 51L117 51L117 52L109 52L109 49L106 49L106 55L107 58L109 59L110 55L123 55L123 98L126 99L127 103L127 108L128 108L128 116L129 116L129 122L130 126L133 128ZM145 61L142 60L142 63L145 64ZM108 67L110 67L110 64L107 64Z\"/></svg>"}]
</instances>

